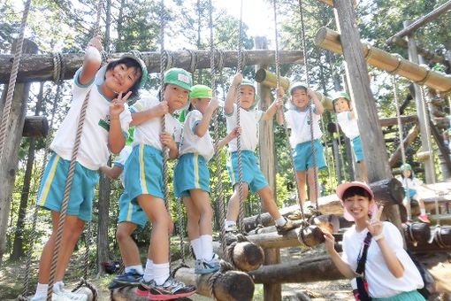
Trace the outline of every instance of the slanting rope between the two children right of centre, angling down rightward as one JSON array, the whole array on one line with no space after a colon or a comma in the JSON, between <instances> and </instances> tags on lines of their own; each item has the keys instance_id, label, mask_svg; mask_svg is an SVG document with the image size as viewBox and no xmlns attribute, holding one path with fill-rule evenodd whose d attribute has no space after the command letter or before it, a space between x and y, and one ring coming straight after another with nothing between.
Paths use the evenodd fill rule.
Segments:
<instances>
[{"instance_id":1,"label":"slanting rope between the two children right of centre, angling down rightward","mask_svg":"<svg viewBox=\"0 0 451 301\"><path fill-rule=\"evenodd\" d=\"M276 5L276 0L272 1L272 10L274 12L274 41L276 44L276 51L275 51L275 58L276 58L276 77L277 77L277 89L279 89L280 87L280 58L279 58L279 31L278 31L278 26L277 26L277 5ZM283 127L285 130L285 134L289 135L288 132L288 126L287 126L287 119L285 117L285 112L283 107L280 107L279 110L281 110L282 113L282 117L283 117ZM305 214L304 214L304 209L303 206L301 204L301 191L299 190L299 179L296 176L296 170L294 168L294 151L287 139L287 146L288 149L290 150L290 166L291 169L293 170L293 177L294 177L294 181L296 182L296 203L299 204L300 207L300 212L301 212L301 217L302 220L305 220Z\"/></svg>"}]
</instances>

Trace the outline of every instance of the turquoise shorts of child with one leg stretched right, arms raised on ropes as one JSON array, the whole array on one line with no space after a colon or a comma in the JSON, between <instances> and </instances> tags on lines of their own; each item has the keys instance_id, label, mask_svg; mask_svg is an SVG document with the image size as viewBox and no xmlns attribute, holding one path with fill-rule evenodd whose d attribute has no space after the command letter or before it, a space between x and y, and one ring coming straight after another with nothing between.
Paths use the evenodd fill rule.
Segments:
<instances>
[{"instance_id":1,"label":"turquoise shorts of child with one leg stretched right, arms raised on ropes","mask_svg":"<svg viewBox=\"0 0 451 301\"><path fill-rule=\"evenodd\" d=\"M259 191L268 186L268 181L264 178L258 158L254 151L241 151L242 181L248 183L252 192ZM232 187L239 181L238 174L238 152L233 151L227 158L227 171L229 172Z\"/></svg>"}]
</instances>

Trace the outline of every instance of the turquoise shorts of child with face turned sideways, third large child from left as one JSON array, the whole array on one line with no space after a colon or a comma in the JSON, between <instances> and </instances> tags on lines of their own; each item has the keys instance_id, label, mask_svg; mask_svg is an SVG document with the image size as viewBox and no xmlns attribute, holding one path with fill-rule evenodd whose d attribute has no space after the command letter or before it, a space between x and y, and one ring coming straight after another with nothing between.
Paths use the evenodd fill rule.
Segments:
<instances>
[{"instance_id":1,"label":"turquoise shorts of child with face turned sideways, third large child from left","mask_svg":"<svg viewBox=\"0 0 451 301\"><path fill-rule=\"evenodd\" d=\"M210 172L205 158L195 153L182 155L174 169L175 197L189 197L189 190L210 193Z\"/></svg>"}]
</instances>

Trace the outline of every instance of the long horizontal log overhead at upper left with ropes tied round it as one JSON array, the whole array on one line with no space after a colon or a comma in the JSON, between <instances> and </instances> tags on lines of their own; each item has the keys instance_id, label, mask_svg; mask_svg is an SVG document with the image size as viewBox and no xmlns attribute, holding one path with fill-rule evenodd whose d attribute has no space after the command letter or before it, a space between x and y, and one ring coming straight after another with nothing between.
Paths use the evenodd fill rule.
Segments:
<instances>
[{"instance_id":1,"label":"long horizontal log overhead at upper left with ropes tied round it","mask_svg":"<svg viewBox=\"0 0 451 301\"><path fill-rule=\"evenodd\" d=\"M224 66L237 66L236 50L225 50L223 52ZM113 53L111 59L120 58L124 53ZM274 64L275 51L273 50L244 50L245 65ZM187 50L172 51L172 66L189 69L191 66L191 54ZM302 50L281 50L279 53L280 64L302 63ZM64 80L73 78L73 74L83 64L83 53L62 54L62 64L65 66ZM11 55L0 55L0 83L9 81L12 64ZM148 67L149 73L157 73L160 70L160 52L141 52L141 58ZM195 50L195 68L210 68L210 51ZM217 55L215 58L219 59ZM52 81L54 63L51 54L23 55L20 60L18 82Z\"/></svg>"}]
</instances>

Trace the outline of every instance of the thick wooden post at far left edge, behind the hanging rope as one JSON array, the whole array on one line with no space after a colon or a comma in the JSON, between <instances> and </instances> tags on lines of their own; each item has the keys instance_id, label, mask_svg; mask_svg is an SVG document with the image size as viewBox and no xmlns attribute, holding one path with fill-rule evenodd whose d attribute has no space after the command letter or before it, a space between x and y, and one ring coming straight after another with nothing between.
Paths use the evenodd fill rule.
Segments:
<instances>
[{"instance_id":1,"label":"thick wooden post at far left edge, behind the hanging rope","mask_svg":"<svg viewBox=\"0 0 451 301\"><path fill-rule=\"evenodd\" d=\"M14 49L15 47L13 47ZM25 39L23 53L37 53L36 43ZM16 84L12 98L9 124L7 125L7 137L4 142L4 156L0 159L0 262L3 258L6 243L6 228L11 206L11 191L14 188L14 180L19 168L19 147L22 138L22 129L27 112L28 92L30 83ZM6 100L6 91L2 95L0 109L3 110Z\"/></svg>"}]
</instances>

